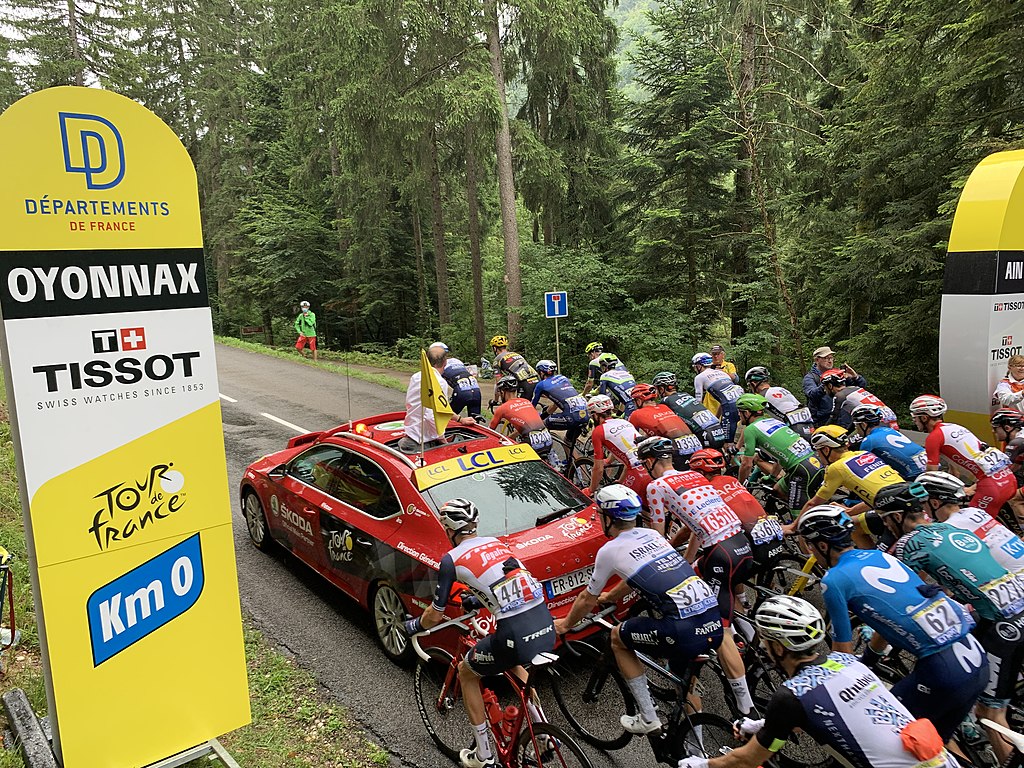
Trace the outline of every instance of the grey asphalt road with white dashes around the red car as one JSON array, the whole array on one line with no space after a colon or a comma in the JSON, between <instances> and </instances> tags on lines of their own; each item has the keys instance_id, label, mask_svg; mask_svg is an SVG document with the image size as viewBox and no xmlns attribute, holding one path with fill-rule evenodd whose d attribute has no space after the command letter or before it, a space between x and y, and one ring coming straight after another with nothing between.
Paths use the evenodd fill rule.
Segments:
<instances>
[{"instance_id":1,"label":"grey asphalt road with white dashes around the red car","mask_svg":"<svg viewBox=\"0 0 1024 768\"><path fill-rule=\"evenodd\" d=\"M403 393L221 345L217 369L243 610L275 645L316 676L327 694L391 753L394 765L452 765L434 748L417 713L412 671L395 666L378 648L367 612L301 563L253 547L237 493L246 466L284 447L299 429L347 421L349 399L352 418L401 411ZM554 702L546 709L557 722ZM467 721L467 744L470 738ZM595 766L653 764L641 739L634 739L613 761L586 749Z\"/></svg>"}]
</instances>

